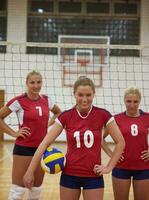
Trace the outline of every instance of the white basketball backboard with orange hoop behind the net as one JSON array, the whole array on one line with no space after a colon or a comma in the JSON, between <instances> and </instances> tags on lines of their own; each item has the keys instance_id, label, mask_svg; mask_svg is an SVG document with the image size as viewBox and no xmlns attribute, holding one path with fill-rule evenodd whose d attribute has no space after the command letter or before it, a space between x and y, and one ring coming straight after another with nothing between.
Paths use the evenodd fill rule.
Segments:
<instances>
[{"instance_id":1,"label":"white basketball backboard with orange hoop behind the net","mask_svg":"<svg viewBox=\"0 0 149 200\"><path fill-rule=\"evenodd\" d=\"M90 76L102 85L102 68L109 64L108 36L59 35L58 59L62 67L63 86L72 86L80 75ZM71 46L68 46L68 45Z\"/></svg>"}]
</instances>

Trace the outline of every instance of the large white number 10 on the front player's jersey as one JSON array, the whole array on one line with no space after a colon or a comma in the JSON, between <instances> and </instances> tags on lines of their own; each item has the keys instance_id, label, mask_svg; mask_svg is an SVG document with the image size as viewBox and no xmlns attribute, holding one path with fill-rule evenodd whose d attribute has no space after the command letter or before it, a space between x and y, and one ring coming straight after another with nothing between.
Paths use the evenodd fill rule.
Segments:
<instances>
[{"instance_id":1,"label":"large white number 10 on the front player's jersey","mask_svg":"<svg viewBox=\"0 0 149 200\"><path fill-rule=\"evenodd\" d=\"M76 131L74 132L74 138L76 138L76 145L77 148L81 147L81 142L80 142L80 131ZM84 137L83 137L83 141L84 141L84 145L87 148L91 148L93 146L94 143L94 135L92 133L92 131L85 131L84 133Z\"/></svg>"}]
</instances>

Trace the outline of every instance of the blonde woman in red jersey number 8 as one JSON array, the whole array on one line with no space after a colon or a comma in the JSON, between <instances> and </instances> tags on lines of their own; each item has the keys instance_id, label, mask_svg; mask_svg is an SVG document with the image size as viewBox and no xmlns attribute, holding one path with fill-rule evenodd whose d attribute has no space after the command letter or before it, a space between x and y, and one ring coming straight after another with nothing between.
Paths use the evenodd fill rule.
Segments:
<instances>
[{"instance_id":1,"label":"blonde woman in red jersey number 8","mask_svg":"<svg viewBox=\"0 0 149 200\"><path fill-rule=\"evenodd\" d=\"M149 200L149 113L139 109L140 102L140 90L137 87L127 88L124 93L126 111L115 115L126 143L112 171L115 200L129 199L131 183L134 200ZM105 141L104 147L107 151ZM112 156L110 150L107 153Z\"/></svg>"}]
</instances>

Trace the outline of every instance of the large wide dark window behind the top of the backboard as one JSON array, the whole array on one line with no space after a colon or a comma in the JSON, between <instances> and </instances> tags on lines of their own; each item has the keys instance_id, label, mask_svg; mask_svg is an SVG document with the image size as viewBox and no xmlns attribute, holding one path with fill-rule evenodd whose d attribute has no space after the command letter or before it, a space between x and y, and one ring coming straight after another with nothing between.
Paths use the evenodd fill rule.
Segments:
<instances>
[{"instance_id":1,"label":"large wide dark window behind the top of the backboard","mask_svg":"<svg viewBox=\"0 0 149 200\"><path fill-rule=\"evenodd\" d=\"M49 6L45 6L45 2ZM139 0L100 2L30 0L29 8L28 42L56 43L58 35L64 34L109 36L111 44L139 45ZM39 13L39 9L43 12ZM57 52L54 48L28 48L27 52L34 53L35 50L38 53ZM137 55L137 51L127 52L112 51L111 55Z\"/></svg>"}]
</instances>

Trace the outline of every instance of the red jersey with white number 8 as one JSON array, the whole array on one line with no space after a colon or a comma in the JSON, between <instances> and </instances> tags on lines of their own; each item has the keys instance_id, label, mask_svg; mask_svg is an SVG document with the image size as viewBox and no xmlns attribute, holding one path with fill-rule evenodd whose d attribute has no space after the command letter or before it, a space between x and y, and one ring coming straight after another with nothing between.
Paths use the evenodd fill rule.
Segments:
<instances>
[{"instance_id":1,"label":"red jersey with white number 8","mask_svg":"<svg viewBox=\"0 0 149 200\"><path fill-rule=\"evenodd\" d=\"M140 110L140 116L130 117L126 113L115 115L115 120L126 142L124 161L116 167L132 170L149 169L149 162L141 159L141 152L148 149L149 113Z\"/></svg>"}]
</instances>

